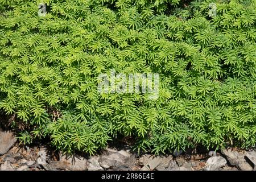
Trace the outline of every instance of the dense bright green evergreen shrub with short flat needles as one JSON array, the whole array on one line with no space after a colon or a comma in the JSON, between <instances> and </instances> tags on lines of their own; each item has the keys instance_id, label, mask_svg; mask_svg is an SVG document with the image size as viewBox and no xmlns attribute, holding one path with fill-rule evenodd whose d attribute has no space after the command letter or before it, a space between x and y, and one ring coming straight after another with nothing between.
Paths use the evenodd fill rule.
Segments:
<instances>
[{"instance_id":1,"label":"dense bright green evergreen shrub with short flat needles","mask_svg":"<svg viewBox=\"0 0 256 182\"><path fill-rule=\"evenodd\" d=\"M255 0L0 0L0 109L67 152L255 146L255 21ZM99 93L111 69L158 73L158 99Z\"/></svg>"}]
</instances>

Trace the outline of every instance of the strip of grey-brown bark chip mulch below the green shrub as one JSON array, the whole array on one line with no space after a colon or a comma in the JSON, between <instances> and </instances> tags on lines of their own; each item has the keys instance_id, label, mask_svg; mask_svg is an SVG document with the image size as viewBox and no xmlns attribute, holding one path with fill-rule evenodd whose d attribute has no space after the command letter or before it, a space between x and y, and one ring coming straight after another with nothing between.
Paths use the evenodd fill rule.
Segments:
<instances>
[{"instance_id":1,"label":"strip of grey-brown bark chip mulch below the green shrub","mask_svg":"<svg viewBox=\"0 0 256 182\"><path fill-rule=\"evenodd\" d=\"M12 133L0 131L0 170L252 171L256 164L256 150L237 148L193 155L175 152L166 156L136 156L129 145L112 145L94 156L66 156L48 145L20 146L15 141Z\"/></svg>"}]
</instances>

